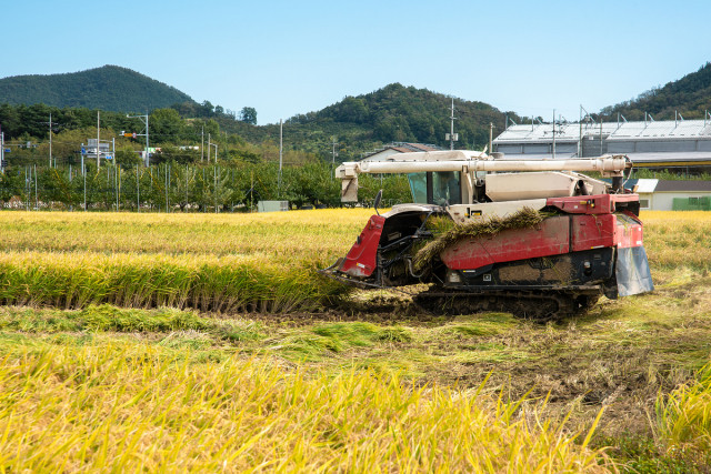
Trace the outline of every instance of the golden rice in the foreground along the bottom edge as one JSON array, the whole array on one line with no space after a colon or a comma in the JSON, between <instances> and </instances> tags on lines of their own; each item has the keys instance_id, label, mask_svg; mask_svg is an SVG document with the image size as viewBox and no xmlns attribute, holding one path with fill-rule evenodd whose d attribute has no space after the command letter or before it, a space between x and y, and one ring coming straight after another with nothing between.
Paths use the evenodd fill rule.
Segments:
<instances>
[{"instance_id":1,"label":"golden rice in the foreground along the bottom edge","mask_svg":"<svg viewBox=\"0 0 711 474\"><path fill-rule=\"evenodd\" d=\"M287 372L168 349L28 350L0 362L0 466L21 472L607 472L563 425L481 391Z\"/></svg>"}]
</instances>

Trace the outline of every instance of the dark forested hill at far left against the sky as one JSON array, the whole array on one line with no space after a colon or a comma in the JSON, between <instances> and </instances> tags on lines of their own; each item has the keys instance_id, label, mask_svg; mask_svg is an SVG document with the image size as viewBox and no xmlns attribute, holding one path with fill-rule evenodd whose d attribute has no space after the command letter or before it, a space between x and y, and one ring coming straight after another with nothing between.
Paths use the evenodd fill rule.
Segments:
<instances>
[{"instance_id":1,"label":"dark forested hill at far left against the sky","mask_svg":"<svg viewBox=\"0 0 711 474\"><path fill-rule=\"evenodd\" d=\"M0 103L146 112L191 101L176 88L118 65L0 79Z\"/></svg>"}]
</instances>

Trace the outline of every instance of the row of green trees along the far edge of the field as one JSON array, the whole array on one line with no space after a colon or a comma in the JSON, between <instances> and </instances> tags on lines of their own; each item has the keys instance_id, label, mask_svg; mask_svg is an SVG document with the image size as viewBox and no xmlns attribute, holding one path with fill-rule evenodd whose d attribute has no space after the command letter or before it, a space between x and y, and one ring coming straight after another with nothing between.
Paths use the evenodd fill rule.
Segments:
<instances>
[{"instance_id":1,"label":"row of green trees along the far edge of the field","mask_svg":"<svg viewBox=\"0 0 711 474\"><path fill-rule=\"evenodd\" d=\"M385 205L411 201L403 175L360 178L361 204L383 190ZM168 162L123 169L13 167L0 174L0 204L8 209L236 212L262 200L290 206L340 206L340 180L328 163L284 167L276 163L193 165Z\"/></svg>"}]
</instances>

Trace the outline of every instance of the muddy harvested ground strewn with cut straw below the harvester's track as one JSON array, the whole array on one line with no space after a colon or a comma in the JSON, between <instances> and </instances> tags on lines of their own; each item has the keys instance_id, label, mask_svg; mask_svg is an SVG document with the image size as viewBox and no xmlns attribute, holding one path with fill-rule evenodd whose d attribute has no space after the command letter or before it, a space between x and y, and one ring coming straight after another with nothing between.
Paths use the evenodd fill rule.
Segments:
<instances>
[{"instance_id":1,"label":"muddy harvested ground strewn with cut straw below the harvester's track","mask_svg":"<svg viewBox=\"0 0 711 474\"><path fill-rule=\"evenodd\" d=\"M397 326L410 335L312 364L395 370L417 384L462 390L490 375L485 390L527 396L529 404L545 401L547 415L571 415L571 428L587 430L604 410L598 440L653 441L660 393L692 381L711 355L711 278L670 272L654 279L652 294L602 297L583 314L544 324L508 314L438 316L407 295L381 291L320 314L253 317L277 332L339 322Z\"/></svg>"}]
</instances>

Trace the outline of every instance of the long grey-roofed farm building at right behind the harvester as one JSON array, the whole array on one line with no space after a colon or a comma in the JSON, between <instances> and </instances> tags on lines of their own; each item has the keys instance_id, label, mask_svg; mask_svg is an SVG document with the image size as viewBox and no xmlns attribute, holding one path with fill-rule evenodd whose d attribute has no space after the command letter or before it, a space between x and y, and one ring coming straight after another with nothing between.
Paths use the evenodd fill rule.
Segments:
<instances>
[{"instance_id":1,"label":"long grey-roofed farm building at right behind the harvester","mask_svg":"<svg viewBox=\"0 0 711 474\"><path fill-rule=\"evenodd\" d=\"M711 119L514 124L493 151L513 160L627 154L637 168L703 169L711 167Z\"/></svg>"}]
</instances>

